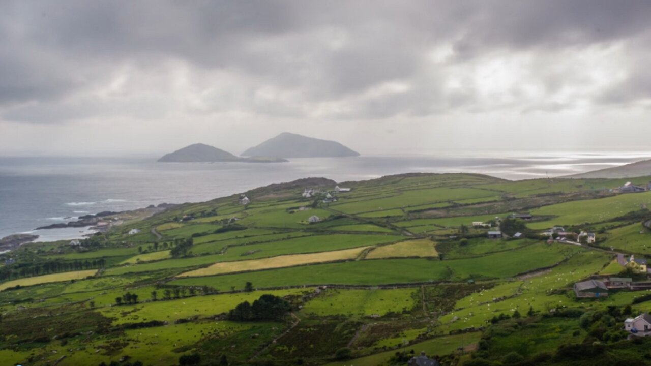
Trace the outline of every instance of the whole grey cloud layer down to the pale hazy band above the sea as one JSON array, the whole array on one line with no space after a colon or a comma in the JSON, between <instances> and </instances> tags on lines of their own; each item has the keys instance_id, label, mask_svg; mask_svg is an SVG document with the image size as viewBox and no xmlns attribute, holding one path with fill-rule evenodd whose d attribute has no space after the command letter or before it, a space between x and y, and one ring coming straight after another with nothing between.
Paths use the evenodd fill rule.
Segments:
<instances>
[{"instance_id":1,"label":"whole grey cloud layer down to the pale hazy band above the sea","mask_svg":"<svg viewBox=\"0 0 651 366\"><path fill-rule=\"evenodd\" d=\"M0 124L645 107L649 19L645 0L0 0Z\"/></svg>"}]
</instances>

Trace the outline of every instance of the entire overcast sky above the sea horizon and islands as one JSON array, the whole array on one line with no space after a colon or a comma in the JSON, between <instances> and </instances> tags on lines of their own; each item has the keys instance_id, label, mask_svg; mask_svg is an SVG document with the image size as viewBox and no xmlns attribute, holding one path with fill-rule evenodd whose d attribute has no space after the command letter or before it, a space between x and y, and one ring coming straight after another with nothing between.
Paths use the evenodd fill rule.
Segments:
<instances>
[{"instance_id":1,"label":"entire overcast sky above the sea horizon and islands","mask_svg":"<svg viewBox=\"0 0 651 366\"><path fill-rule=\"evenodd\" d=\"M0 156L651 150L651 1L0 0Z\"/></svg>"}]
</instances>

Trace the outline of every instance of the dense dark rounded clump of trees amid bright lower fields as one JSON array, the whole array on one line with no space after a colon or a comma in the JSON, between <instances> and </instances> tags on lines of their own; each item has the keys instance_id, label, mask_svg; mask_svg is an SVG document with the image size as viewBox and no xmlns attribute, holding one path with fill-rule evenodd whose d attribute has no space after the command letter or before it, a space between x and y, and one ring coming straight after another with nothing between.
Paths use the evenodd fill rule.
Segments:
<instances>
[{"instance_id":1,"label":"dense dark rounded clump of trees amid bright lower fields","mask_svg":"<svg viewBox=\"0 0 651 366\"><path fill-rule=\"evenodd\" d=\"M229 311L229 320L256 321L256 320L283 320L292 309L290 304L270 294L264 294L255 300L239 303L235 309Z\"/></svg>"}]
</instances>

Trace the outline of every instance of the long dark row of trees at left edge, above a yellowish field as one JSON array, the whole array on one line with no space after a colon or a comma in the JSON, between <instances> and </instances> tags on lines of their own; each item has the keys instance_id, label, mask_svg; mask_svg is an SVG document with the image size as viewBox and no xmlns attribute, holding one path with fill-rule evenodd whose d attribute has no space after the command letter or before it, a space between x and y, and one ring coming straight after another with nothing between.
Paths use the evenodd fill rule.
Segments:
<instances>
[{"instance_id":1,"label":"long dark row of trees at left edge, above a yellowish field","mask_svg":"<svg viewBox=\"0 0 651 366\"><path fill-rule=\"evenodd\" d=\"M40 263L14 263L0 267L0 281L9 281L21 277L32 277L35 275L53 274L57 272L70 272L103 268L106 264L104 259L75 260L64 262L62 260L48 260Z\"/></svg>"}]
</instances>

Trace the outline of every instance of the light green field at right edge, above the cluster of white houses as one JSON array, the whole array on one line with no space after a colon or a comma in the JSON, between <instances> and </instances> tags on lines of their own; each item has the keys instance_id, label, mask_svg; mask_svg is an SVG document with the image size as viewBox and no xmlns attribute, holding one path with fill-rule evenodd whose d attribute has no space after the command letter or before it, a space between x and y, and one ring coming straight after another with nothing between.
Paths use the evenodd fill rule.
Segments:
<instances>
[{"instance_id":1,"label":"light green field at right edge, above the cluster of white houses","mask_svg":"<svg viewBox=\"0 0 651 366\"><path fill-rule=\"evenodd\" d=\"M557 216L548 221L529 223L531 229L546 229L553 225L578 225L609 221L651 204L651 192L620 194L602 199L552 204L533 210L534 216Z\"/></svg>"}]
</instances>

